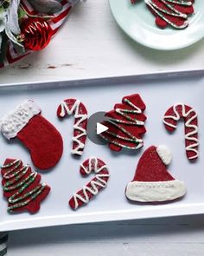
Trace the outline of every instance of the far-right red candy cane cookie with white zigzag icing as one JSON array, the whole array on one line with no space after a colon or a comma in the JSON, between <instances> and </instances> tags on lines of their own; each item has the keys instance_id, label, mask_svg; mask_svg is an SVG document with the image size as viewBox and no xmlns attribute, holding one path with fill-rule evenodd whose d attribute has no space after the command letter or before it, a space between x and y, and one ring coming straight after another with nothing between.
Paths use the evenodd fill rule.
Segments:
<instances>
[{"instance_id":1,"label":"far-right red candy cane cookie with white zigzag icing","mask_svg":"<svg viewBox=\"0 0 204 256\"><path fill-rule=\"evenodd\" d=\"M177 121L181 118L185 123L185 144L188 160L198 158L198 117L194 108L183 103L177 103L167 110L163 117L165 128L173 132L176 128Z\"/></svg>"}]
</instances>

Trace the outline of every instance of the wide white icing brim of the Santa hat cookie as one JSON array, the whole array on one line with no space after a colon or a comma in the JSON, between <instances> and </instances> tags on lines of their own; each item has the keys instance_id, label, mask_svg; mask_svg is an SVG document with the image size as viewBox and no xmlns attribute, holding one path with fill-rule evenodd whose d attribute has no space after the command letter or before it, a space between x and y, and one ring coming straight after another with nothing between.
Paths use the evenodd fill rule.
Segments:
<instances>
[{"instance_id":1,"label":"wide white icing brim of the Santa hat cookie","mask_svg":"<svg viewBox=\"0 0 204 256\"><path fill-rule=\"evenodd\" d=\"M138 202L155 202L175 200L186 194L183 181L132 181L125 191L129 200Z\"/></svg>"}]
</instances>

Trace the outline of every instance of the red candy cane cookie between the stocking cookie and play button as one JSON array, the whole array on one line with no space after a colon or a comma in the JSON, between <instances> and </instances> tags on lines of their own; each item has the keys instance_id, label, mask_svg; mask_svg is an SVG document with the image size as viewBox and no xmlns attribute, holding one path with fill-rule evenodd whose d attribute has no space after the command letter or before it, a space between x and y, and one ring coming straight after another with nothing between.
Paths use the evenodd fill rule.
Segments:
<instances>
[{"instance_id":1,"label":"red candy cane cookie between the stocking cookie and play button","mask_svg":"<svg viewBox=\"0 0 204 256\"><path fill-rule=\"evenodd\" d=\"M74 115L72 154L82 155L86 143L87 127L87 109L85 105L76 99L64 100L57 109L57 115L60 118L66 115Z\"/></svg>"}]
</instances>

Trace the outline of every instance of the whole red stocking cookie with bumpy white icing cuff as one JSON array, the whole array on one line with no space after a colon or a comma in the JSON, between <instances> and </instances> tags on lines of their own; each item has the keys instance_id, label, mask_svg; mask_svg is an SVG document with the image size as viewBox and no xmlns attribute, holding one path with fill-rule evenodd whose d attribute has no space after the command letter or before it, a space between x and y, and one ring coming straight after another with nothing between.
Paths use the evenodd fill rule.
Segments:
<instances>
[{"instance_id":1,"label":"whole red stocking cookie with bumpy white icing cuff","mask_svg":"<svg viewBox=\"0 0 204 256\"><path fill-rule=\"evenodd\" d=\"M31 100L22 102L0 120L3 136L18 138L29 149L31 159L41 170L54 167L61 159L61 134L41 115L41 108Z\"/></svg>"}]
</instances>

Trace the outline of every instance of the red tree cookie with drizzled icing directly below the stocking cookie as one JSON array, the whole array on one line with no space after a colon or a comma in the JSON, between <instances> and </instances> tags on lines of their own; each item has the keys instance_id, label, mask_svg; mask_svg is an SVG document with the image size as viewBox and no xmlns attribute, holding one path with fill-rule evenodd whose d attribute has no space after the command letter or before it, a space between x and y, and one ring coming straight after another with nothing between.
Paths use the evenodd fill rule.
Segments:
<instances>
[{"instance_id":1,"label":"red tree cookie with drizzled icing directly below the stocking cookie","mask_svg":"<svg viewBox=\"0 0 204 256\"><path fill-rule=\"evenodd\" d=\"M48 185L40 183L41 175L32 171L31 167L23 166L18 159L6 159L1 174L3 195L9 202L8 212L38 212L41 201L50 191Z\"/></svg>"}]
</instances>

